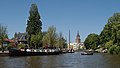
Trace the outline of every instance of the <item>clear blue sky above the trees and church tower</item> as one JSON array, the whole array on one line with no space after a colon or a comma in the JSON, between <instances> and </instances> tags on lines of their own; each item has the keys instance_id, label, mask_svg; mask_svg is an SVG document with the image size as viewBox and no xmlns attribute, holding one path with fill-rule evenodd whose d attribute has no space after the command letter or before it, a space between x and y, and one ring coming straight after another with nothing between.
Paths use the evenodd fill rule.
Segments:
<instances>
[{"instance_id":1,"label":"clear blue sky above the trees and church tower","mask_svg":"<svg viewBox=\"0 0 120 68\"><path fill-rule=\"evenodd\" d=\"M109 17L120 12L120 0L0 0L0 24L7 26L8 36L25 32L31 4L37 4L42 31L55 26L68 40L81 41L90 33L100 34Z\"/></svg>"}]
</instances>

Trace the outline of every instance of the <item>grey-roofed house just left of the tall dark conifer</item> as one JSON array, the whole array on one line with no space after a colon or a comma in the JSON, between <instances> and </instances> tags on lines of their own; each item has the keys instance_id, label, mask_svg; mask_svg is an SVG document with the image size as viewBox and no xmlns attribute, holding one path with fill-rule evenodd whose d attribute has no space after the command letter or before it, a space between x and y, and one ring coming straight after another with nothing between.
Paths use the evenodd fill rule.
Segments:
<instances>
[{"instance_id":1,"label":"grey-roofed house just left of the tall dark conifer","mask_svg":"<svg viewBox=\"0 0 120 68\"><path fill-rule=\"evenodd\" d=\"M27 33L15 33L14 34L14 41L17 44L27 44Z\"/></svg>"}]
</instances>

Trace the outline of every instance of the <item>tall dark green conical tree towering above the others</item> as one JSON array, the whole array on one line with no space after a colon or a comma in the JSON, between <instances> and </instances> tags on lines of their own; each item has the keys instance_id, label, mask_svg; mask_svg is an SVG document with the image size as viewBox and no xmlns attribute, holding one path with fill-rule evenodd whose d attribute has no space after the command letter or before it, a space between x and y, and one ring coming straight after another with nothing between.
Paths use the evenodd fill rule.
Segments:
<instances>
[{"instance_id":1,"label":"tall dark green conical tree towering above the others","mask_svg":"<svg viewBox=\"0 0 120 68\"><path fill-rule=\"evenodd\" d=\"M30 44L31 36L37 35L42 30L41 17L38 12L36 4L32 4L29 11L29 18L27 20L26 32L28 33L28 43Z\"/></svg>"}]
</instances>

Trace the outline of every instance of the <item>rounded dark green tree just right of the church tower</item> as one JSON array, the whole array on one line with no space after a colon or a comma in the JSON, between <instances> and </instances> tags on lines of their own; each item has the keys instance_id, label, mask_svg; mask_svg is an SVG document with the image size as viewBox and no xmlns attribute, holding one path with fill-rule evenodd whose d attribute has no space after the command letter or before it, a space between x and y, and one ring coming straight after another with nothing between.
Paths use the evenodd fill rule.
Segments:
<instances>
[{"instance_id":1,"label":"rounded dark green tree just right of the church tower","mask_svg":"<svg viewBox=\"0 0 120 68\"><path fill-rule=\"evenodd\" d=\"M95 50L99 45L99 36L97 34L89 34L88 37L84 41L84 45L86 49Z\"/></svg>"}]
</instances>

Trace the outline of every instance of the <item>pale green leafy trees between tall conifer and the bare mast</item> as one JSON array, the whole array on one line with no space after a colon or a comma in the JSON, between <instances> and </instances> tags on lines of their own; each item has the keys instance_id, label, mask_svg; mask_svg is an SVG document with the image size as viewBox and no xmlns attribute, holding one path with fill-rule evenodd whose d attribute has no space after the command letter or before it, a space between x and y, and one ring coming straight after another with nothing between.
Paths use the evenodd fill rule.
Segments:
<instances>
[{"instance_id":1,"label":"pale green leafy trees between tall conifer and the bare mast","mask_svg":"<svg viewBox=\"0 0 120 68\"><path fill-rule=\"evenodd\" d=\"M67 43L64 39L62 33L57 34L56 28L50 26L47 32L43 33L42 39L43 47L56 47L56 48L66 48Z\"/></svg>"}]
</instances>

